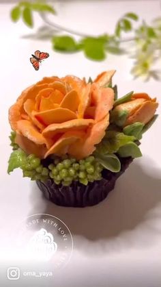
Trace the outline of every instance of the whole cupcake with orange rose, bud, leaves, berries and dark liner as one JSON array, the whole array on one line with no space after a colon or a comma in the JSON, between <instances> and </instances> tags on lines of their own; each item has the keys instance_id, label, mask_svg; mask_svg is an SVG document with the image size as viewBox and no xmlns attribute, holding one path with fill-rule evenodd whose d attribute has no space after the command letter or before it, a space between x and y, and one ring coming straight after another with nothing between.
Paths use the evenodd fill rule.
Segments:
<instances>
[{"instance_id":1,"label":"whole cupcake with orange rose, bud, leaves, berries and dark liner","mask_svg":"<svg viewBox=\"0 0 161 287\"><path fill-rule=\"evenodd\" d=\"M117 99L115 71L94 81L44 77L23 90L9 110L12 153L8 173L20 168L57 205L95 205L141 157L141 138L158 103L144 92Z\"/></svg>"}]
</instances>

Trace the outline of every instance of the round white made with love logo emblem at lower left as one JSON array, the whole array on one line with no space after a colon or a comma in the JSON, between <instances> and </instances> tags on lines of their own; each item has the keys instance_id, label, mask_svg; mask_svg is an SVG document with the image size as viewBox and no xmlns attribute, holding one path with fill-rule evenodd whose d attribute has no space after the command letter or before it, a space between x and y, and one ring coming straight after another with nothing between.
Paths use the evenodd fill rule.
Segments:
<instances>
[{"instance_id":1,"label":"round white made with love logo emblem at lower left","mask_svg":"<svg viewBox=\"0 0 161 287\"><path fill-rule=\"evenodd\" d=\"M50 214L33 214L16 230L16 247L26 260L47 262L53 269L65 266L71 258L73 240L70 229Z\"/></svg>"}]
</instances>

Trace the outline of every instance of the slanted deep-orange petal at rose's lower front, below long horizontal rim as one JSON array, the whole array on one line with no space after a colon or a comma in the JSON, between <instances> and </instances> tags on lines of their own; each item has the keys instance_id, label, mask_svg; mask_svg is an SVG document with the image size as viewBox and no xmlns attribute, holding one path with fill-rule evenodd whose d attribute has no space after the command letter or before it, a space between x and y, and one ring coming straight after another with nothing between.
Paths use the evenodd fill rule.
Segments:
<instances>
[{"instance_id":1,"label":"slanted deep-orange petal at rose's lower front, below long horizontal rim","mask_svg":"<svg viewBox=\"0 0 161 287\"><path fill-rule=\"evenodd\" d=\"M65 154L68 152L68 147L73 142L76 142L76 140L83 138L85 136L85 132L81 131L72 131L72 132L66 132L55 142L53 147L50 147L50 149L46 152L45 158L53 153L56 153L58 155Z\"/></svg>"}]
</instances>

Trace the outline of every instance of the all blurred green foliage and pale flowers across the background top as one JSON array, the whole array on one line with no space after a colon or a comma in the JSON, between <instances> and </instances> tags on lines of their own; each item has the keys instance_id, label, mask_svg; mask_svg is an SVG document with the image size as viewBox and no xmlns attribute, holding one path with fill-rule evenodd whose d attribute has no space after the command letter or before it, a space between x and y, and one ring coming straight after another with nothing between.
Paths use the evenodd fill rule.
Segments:
<instances>
[{"instance_id":1,"label":"all blurred green foliage and pale flowers across the background top","mask_svg":"<svg viewBox=\"0 0 161 287\"><path fill-rule=\"evenodd\" d=\"M38 12L41 15L56 13L53 6L46 1L22 1L12 9L12 21L17 22L22 18L28 27L33 27L33 12ZM151 25L147 25L143 21L141 25L134 28L133 24L138 20L138 15L135 13L126 13L117 21L112 35L104 34L97 37L82 35L81 40L75 40L69 34L51 36L53 49L66 53L83 51L87 58L96 61L104 60L108 53L117 55L127 53L128 56L134 58L134 66L131 70L134 77L144 76L145 79L149 79L149 77L159 79L160 71L154 67L156 61L161 58L161 18L155 19ZM46 24L48 24L47 21ZM53 27L57 28L54 23ZM62 27L62 31L66 31L65 27ZM68 32L70 32L69 29ZM124 39L124 34L129 32L132 33L132 38ZM71 30L70 34L76 33ZM132 49L129 48L129 45L127 48L125 47L125 43L129 40L133 41Z\"/></svg>"}]
</instances>

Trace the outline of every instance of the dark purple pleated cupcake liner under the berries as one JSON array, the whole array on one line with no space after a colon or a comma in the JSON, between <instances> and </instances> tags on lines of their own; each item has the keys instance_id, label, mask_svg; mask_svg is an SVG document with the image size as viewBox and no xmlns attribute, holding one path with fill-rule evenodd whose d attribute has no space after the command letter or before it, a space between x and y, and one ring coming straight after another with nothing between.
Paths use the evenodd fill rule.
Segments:
<instances>
[{"instance_id":1,"label":"dark purple pleated cupcake liner under the berries","mask_svg":"<svg viewBox=\"0 0 161 287\"><path fill-rule=\"evenodd\" d=\"M57 185L53 179L48 179L45 183L38 180L37 184L44 196L57 205L75 208L96 205L113 190L117 178L126 171L132 158L121 158L120 161L121 171L119 173L112 173L104 169L103 178L99 181L89 182L87 186L79 182L72 182L70 186Z\"/></svg>"}]
</instances>

